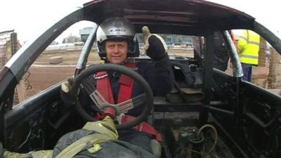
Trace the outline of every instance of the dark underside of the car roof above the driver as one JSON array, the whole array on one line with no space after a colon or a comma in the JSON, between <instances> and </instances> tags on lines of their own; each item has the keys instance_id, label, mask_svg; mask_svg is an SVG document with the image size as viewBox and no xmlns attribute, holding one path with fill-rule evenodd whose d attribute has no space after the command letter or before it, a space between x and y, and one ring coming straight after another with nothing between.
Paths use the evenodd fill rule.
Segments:
<instances>
[{"instance_id":1,"label":"dark underside of the car roof above the driver","mask_svg":"<svg viewBox=\"0 0 281 158\"><path fill-rule=\"evenodd\" d=\"M141 32L202 35L207 30L253 29L254 18L233 8L199 0L94 0L84 4L84 18L100 24L122 16Z\"/></svg>"}]
</instances>

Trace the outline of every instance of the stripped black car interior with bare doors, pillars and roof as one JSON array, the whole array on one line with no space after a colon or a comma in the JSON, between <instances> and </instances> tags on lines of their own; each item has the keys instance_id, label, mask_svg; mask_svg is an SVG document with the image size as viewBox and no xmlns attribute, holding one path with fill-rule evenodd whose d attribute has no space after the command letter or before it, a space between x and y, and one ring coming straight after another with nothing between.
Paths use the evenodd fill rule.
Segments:
<instances>
[{"instance_id":1,"label":"stripped black car interior with bare doors, pillars and roof","mask_svg":"<svg viewBox=\"0 0 281 158\"><path fill-rule=\"evenodd\" d=\"M280 157L281 97L242 80L242 67L226 30L251 29L278 53L280 39L246 13L200 0L93 0L20 48L0 72L0 140L7 150L49 150L65 133L85 124L81 113L74 107L69 110L60 98L61 83L13 106L15 86L65 29L81 20L99 25L117 16L132 22L138 33L146 25L157 34L204 37L205 47L195 51L193 58L169 55L174 92L153 98L149 122L162 135L161 157ZM222 32L231 50L233 76L213 68L217 31ZM95 40L93 29L77 61L75 75L86 70ZM150 59L140 55L134 60ZM186 94L183 89L192 93Z\"/></svg>"}]
</instances>

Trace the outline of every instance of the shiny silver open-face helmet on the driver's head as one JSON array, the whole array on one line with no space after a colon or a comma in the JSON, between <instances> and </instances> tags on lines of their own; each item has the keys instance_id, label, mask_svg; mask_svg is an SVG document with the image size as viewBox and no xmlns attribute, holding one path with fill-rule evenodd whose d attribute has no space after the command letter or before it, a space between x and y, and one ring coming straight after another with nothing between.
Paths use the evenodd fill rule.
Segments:
<instances>
[{"instance_id":1,"label":"shiny silver open-face helmet on the driver's head","mask_svg":"<svg viewBox=\"0 0 281 158\"><path fill-rule=\"evenodd\" d=\"M128 57L137 57L140 53L135 27L125 18L109 18L98 26L96 41L100 58L106 57L105 41L107 40L126 40L128 42Z\"/></svg>"}]
</instances>

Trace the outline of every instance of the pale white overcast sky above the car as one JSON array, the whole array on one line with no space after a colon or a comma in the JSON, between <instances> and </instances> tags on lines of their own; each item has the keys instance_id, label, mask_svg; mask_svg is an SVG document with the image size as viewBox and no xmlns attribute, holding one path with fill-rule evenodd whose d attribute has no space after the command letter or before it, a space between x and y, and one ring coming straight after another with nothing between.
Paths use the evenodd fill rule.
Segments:
<instances>
[{"instance_id":1,"label":"pale white overcast sky above the car","mask_svg":"<svg viewBox=\"0 0 281 158\"><path fill-rule=\"evenodd\" d=\"M51 27L65 15L75 11L89 0L1 0L0 1L0 32L15 29L20 43L30 41ZM210 0L218 4L237 8L252 15L262 25L281 37L281 20L277 18L281 12L278 0ZM79 34L81 27L92 24L83 23L71 28L73 34ZM67 36L65 32L63 36Z\"/></svg>"}]
</instances>

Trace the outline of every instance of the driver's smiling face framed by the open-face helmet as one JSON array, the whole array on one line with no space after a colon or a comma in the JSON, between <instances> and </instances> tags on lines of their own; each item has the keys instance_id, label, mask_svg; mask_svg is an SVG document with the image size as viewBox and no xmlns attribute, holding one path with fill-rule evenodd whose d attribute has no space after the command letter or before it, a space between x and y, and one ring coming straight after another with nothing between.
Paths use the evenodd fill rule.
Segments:
<instances>
[{"instance_id":1,"label":"driver's smiling face framed by the open-face helmet","mask_svg":"<svg viewBox=\"0 0 281 158\"><path fill-rule=\"evenodd\" d=\"M121 64L126 60L128 43L126 41L105 41L106 58L112 64Z\"/></svg>"}]
</instances>

